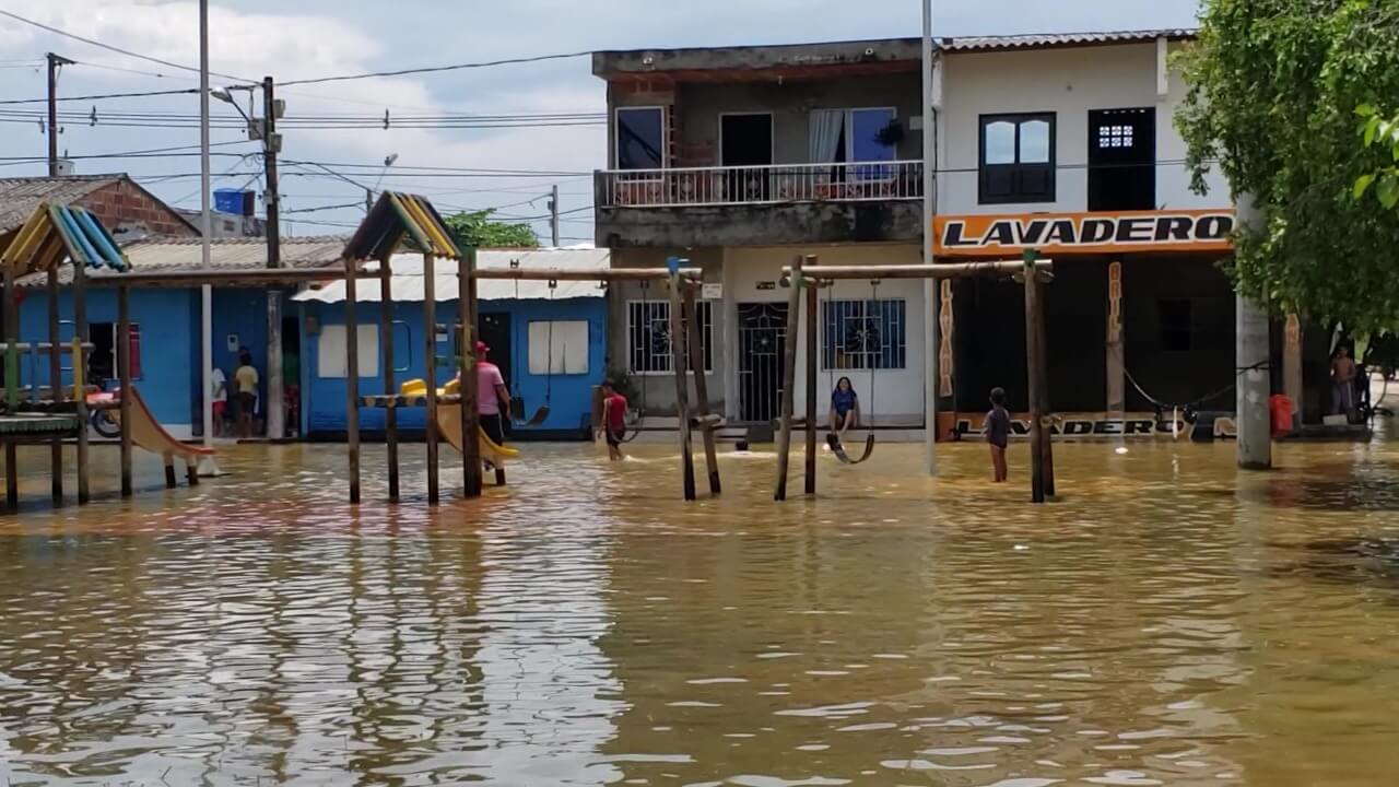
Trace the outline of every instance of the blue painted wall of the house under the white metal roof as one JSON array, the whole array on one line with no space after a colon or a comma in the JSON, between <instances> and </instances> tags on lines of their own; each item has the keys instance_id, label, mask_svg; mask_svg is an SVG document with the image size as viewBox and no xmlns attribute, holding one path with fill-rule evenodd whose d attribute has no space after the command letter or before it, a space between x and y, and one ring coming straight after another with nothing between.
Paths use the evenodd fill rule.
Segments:
<instances>
[{"instance_id":1,"label":"blue painted wall of the house under the white metal roof","mask_svg":"<svg viewBox=\"0 0 1399 787\"><path fill-rule=\"evenodd\" d=\"M481 301L480 311L484 314L508 314L511 318L511 394L525 399L526 417L546 402L550 403L548 419L537 427L515 427L516 431L550 431L550 433L578 433L583 434L583 427L592 420L592 388L606 377L606 349L607 349L607 302L604 298L571 298L571 300L525 300L525 301ZM457 314L456 301L439 301L436 304L436 319L439 323L455 321ZM361 325L379 323L379 304L360 304L357 312ZM302 304L302 325L306 318L313 318L322 326L344 325L343 304ZM396 304L393 318L402 321L395 325L393 354L395 382L422 378L425 375L422 347L422 304ZM576 375L547 375L529 374L529 323L530 321L588 321L588 374ZM381 343L382 351L382 343ZM436 353L446 356L452 351L450 342L439 343ZM492 357L497 349L492 349ZM302 433L313 436L316 433L343 433L346 430L346 381L343 378L318 377L320 357L319 335L306 336L302 351ZM382 360L381 360L382 365ZM438 381L445 382L456 374L452 368L439 368ZM551 388L551 394L550 394ZM374 377L360 379L360 394L382 394L382 368ZM362 408L360 410L360 429L382 430L383 410L376 408ZM427 412L421 408L400 410L399 429L421 430L427 422Z\"/></svg>"}]
</instances>

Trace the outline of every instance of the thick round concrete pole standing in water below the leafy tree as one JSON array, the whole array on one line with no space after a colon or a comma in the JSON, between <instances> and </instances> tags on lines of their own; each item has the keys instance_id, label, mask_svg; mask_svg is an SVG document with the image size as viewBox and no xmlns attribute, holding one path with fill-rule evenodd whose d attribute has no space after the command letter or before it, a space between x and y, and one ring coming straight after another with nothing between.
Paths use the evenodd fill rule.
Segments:
<instances>
[{"instance_id":1,"label":"thick round concrete pole standing in water below the leafy tree","mask_svg":"<svg viewBox=\"0 0 1399 787\"><path fill-rule=\"evenodd\" d=\"M1237 203L1241 227L1262 225L1262 217L1251 195L1240 195ZM1234 419L1238 429L1238 466L1266 471L1273 466L1273 437L1267 412L1267 396L1272 394L1267 309L1244 295L1235 295L1235 301L1234 365L1238 371Z\"/></svg>"}]
</instances>

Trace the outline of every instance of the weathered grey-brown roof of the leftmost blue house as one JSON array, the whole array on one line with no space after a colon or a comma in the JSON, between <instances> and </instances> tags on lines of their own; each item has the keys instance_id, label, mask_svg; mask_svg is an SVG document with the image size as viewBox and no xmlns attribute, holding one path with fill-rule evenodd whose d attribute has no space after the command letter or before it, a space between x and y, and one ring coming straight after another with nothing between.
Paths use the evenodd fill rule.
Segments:
<instances>
[{"instance_id":1,"label":"weathered grey-brown roof of the leftmost blue house","mask_svg":"<svg viewBox=\"0 0 1399 787\"><path fill-rule=\"evenodd\" d=\"M262 238L210 238L207 270L260 270L267 267L267 242ZM283 238L283 267L337 267L344 238ZM123 249L136 273L193 273L206 270L199 238L147 238ZM92 270L92 279L112 276L109 270ZM43 277L28 276L21 287L42 284ZM73 269L59 270L59 283L73 281Z\"/></svg>"}]
</instances>

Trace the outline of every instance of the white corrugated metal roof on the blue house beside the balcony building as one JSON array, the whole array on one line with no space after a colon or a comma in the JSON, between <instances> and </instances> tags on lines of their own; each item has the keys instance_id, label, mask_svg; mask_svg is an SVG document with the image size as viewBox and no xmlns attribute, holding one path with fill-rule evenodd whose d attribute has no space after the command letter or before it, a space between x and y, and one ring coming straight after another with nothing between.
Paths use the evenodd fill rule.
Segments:
<instances>
[{"instance_id":1,"label":"white corrugated metal roof on the blue house beside the balcony building","mask_svg":"<svg viewBox=\"0 0 1399 787\"><path fill-rule=\"evenodd\" d=\"M519 267L554 267L565 270L607 270L611 267L611 253L607 249L481 249L476 252L478 269L506 269L512 260ZM422 301L422 256L416 253L393 255L389 260L393 277L389 288L396 302ZM379 302L381 283L378 263L365 265L365 276L355 281L358 302ZM455 301L459 287L455 260L436 260L432 266L432 287L436 301ZM476 283L476 297L481 301L508 300L568 300L600 298L606 288L597 281L558 281L550 293L548 281L515 281L480 279ZM339 304L346 300L346 283L330 281L319 288L304 290L294 301Z\"/></svg>"}]
</instances>

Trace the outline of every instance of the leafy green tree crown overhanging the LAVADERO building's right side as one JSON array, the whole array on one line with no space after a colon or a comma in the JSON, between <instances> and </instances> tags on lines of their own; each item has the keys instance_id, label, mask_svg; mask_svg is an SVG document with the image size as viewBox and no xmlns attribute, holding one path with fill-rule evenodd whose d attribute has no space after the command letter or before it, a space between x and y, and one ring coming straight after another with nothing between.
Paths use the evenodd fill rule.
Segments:
<instances>
[{"instance_id":1,"label":"leafy green tree crown overhanging the LAVADERO building's right side","mask_svg":"<svg viewBox=\"0 0 1399 787\"><path fill-rule=\"evenodd\" d=\"M1177 113L1196 190L1219 162L1262 227L1235 238L1235 287L1353 333L1399 328L1399 216L1357 202L1385 167L1356 109L1399 95L1399 0L1206 0Z\"/></svg>"}]
</instances>

